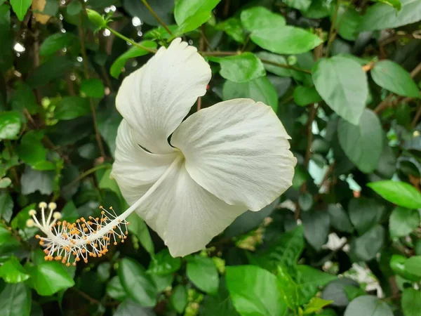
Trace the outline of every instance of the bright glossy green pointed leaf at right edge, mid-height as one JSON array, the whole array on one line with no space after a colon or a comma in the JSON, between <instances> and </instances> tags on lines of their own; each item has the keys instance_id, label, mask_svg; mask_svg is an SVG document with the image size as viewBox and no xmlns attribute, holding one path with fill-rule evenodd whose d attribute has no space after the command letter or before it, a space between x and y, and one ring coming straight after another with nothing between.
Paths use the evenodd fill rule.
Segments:
<instances>
[{"instance_id":1,"label":"bright glossy green pointed leaf at right edge, mid-height","mask_svg":"<svg viewBox=\"0 0 421 316\"><path fill-rule=\"evenodd\" d=\"M382 180L367 184L387 201L407 209L421 209L421 193L409 183Z\"/></svg>"}]
</instances>

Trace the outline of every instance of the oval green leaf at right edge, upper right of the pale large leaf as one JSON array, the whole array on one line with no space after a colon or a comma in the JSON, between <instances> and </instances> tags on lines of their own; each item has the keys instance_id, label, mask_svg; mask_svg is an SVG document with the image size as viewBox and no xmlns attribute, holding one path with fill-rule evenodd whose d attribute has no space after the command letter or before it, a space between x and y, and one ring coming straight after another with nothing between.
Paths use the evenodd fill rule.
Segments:
<instances>
[{"instance_id":1,"label":"oval green leaf at right edge, upper right of the pale large leaf","mask_svg":"<svg viewBox=\"0 0 421 316\"><path fill-rule=\"evenodd\" d=\"M396 64L396 62L392 62L392 60L376 62L371 70L371 77L376 84L399 94L399 96L420 98L420 91L415 81L410 77L409 72Z\"/></svg>"}]
</instances>

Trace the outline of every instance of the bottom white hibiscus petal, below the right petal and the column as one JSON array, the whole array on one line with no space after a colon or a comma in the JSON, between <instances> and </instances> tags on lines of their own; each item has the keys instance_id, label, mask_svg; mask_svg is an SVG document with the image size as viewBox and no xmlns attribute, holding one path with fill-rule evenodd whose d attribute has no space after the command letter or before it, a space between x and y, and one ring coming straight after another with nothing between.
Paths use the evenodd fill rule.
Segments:
<instances>
[{"instance_id":1,"label":"bottom white hibiscus petal, below the right petal and the column","mask_svg":"<svg viewBox=\"0 0 421 316\"><path fill-rule=\"evenodd\" d=\"M204 190L180 162L136 212L161 236L171 256L187 256L204 249L246 209Z\"/></svg>"}]
</instances>

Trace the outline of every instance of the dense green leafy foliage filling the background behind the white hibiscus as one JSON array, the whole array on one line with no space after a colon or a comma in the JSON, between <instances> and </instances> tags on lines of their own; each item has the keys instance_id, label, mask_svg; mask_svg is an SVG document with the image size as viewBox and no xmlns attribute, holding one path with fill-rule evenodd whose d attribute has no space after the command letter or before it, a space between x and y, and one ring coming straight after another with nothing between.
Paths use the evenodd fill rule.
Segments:
<instances>
[{"instance_id":1,"label":"dense green leafy foliage filling the background behind the white hibiscus","mask_svg":"<svg viewBox=\"0 0 421 316\"><path fill-rule=\"evenodd\" d=\"M1 315L420 315L420 20L420 0L0 0ZM126 209L116 91L168 32L213 70L192 112L274 109L293 186L200 254L172 258L131 216L107 256L44 261L39 202Z\"/></svg>"}]
</instances>

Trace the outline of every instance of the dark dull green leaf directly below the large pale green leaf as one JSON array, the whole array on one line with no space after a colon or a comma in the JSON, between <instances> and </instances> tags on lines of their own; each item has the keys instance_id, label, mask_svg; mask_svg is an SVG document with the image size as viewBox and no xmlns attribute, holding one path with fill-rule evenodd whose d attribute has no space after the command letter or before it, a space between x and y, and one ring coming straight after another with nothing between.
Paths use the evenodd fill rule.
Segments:
<instances>
[{"instance_id":1,"label":"dark dull green leaf directly below the large pale green leaf","mask_svg":"<svg viewBox=\"0 0 421 316\"><path fill-rule=\"evenodd\" d=\"M349 160L363 173L377 168L383 151L383 130L380 119L373 111L364 110L357 125L340 119L338 139Z\"/></svg>"}]
</instances>

